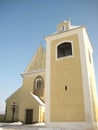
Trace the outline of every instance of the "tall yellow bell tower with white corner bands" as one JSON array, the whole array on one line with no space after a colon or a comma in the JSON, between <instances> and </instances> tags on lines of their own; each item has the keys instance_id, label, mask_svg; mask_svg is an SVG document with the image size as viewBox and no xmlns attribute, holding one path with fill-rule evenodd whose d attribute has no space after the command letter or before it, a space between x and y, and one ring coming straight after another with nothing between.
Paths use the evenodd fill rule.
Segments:
<instances>
[{"instance_id":1,"label":"tall yellow bell tower with white corner bands","mask_svg":"<svg viewBox=\"0 0 98 130\"><path fill-rule=\"evenodd\" d=\"M85 26L63 21L46 40L46 125L93 128L98 122L93 48Z\"/></svg>"}]
</instances>

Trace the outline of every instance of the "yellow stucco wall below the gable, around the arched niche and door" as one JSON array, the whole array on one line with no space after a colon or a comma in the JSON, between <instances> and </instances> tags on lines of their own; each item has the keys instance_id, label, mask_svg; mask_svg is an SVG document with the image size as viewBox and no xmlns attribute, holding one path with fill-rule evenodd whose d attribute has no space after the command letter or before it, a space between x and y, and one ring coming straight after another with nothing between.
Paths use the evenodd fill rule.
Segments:
<instances>
[{"instance_id":1,"label":"yellow stucco wall below the gable, around the arched niche and door","mask_svg":"<svg viewBox=\"0 0 98 130\"><path fill-rule=\"evenodd\" d=\"M16 109L15 112L15 117L14 117L14 121L22 121L25 122L25 109L27 106L28 108L31 108L33 106L32 103L32 99L30 99L29 101L26 101L24 106L22 105L24 99L26 98L26 96L32 92L33 93L33 87L34 87L34 80L37 76L42 76L43 80L45 81L45 74L44 72L38 72L36 74L32 74L32 75L28 75L28 76L23 76L23 86L17 90L15 93L13 93L7 100L6 100L6 106L7 106L7 112L6 112L6 121L11 121L12 119L12 108L11 108L11 104L16 101L16 104L18 105L18 108ZM44 82L45 85L45 82ZM44 86L45 87L45 86ZM41 97L42 99L44 99L44 96ZM28 97L27 97L28 99ZM36 103L34 103L36 104ZM22 105L22 106L21 106ZM34 121L38 121L39 117L38 117L38 104L35 106L35 111L34 111ZM21 109L22 108L22 109ZM38 118L38 119L37 119Z\"/></svg>"}]
</instances>

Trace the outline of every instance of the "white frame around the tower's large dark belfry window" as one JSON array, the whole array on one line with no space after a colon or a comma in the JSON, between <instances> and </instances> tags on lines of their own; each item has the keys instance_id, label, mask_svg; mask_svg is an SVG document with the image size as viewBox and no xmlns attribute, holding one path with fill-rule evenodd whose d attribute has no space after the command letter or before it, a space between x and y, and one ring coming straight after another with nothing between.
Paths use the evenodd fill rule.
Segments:
<instances>
[{"instance_id":1,"label":"white frame around the tower's large dark belfry window","mask_svg":"<svg viewBox=\"0 0 98 130\"><path fill-rule=\"evenodd\" d=\"M71 44L71 49L72 49L72 55L66 55L66 56L63 56L63 57L58 57L58 46L60 44L63 44L63 43L70 43ZM74 51L73 51L73 42L72 41L69 41L69 40L66 40L66 41L62 41L62 42L59 42L57 45L56 45L56 60L62 60L62 59L66 59L66 58L72 58L74 56Z\"/></svg>"}]
</instances>

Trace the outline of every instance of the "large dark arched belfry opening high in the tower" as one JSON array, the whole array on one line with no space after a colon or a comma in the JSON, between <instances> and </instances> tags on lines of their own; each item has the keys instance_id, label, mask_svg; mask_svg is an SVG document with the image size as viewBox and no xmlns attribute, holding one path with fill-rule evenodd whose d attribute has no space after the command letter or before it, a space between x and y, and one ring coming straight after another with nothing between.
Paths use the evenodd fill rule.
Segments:
<instances>
[{"instance_id":1,"label":"large dark arched belfry opening high in the tower","mask_svg":"<svg viewBox=\"0 0 98 130\"><path fill-rule=\"evenodd\" d=\"M72 55L71 42L63 42L57 46L57 58Z\"/></svg>"}]
</instances>

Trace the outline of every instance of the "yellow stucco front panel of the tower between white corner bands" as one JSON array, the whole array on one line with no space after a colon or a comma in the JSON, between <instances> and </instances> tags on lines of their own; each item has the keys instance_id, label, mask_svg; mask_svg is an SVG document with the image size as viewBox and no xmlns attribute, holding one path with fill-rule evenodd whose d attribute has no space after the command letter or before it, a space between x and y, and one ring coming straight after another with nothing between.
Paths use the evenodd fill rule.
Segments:
<instances>
[{"instance_id":1,"label":"yellow stucco front panel of the tower between white corner bands","mask_svg":"<svg viewBox=\"0 0 98 130\"><path fill-rule=\"evenodd\" d=\"M66 40L72 41L73 56L56 60L56 45ZM50 46L50 121L84 121L84 99L78 36L72 35L54 40ZM67 91L65 91L66 85Z\"/></svg>"}]
</instances>

